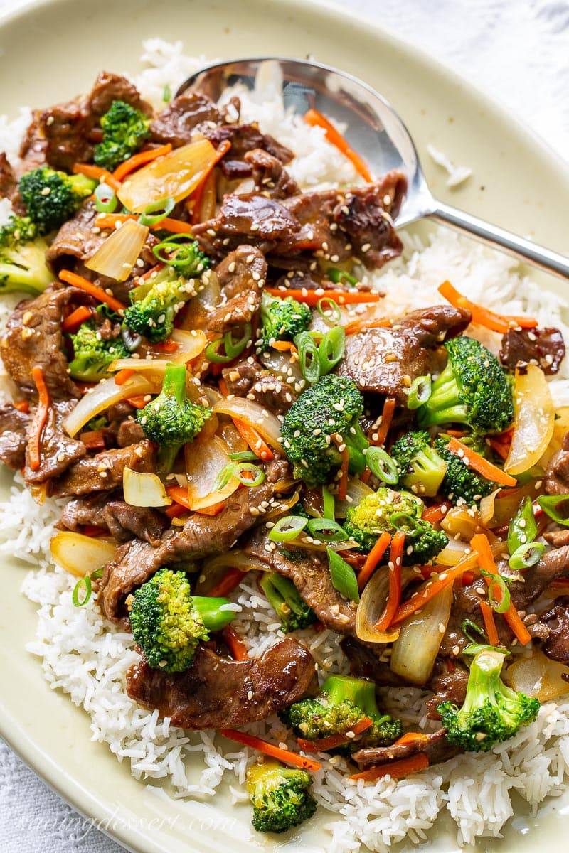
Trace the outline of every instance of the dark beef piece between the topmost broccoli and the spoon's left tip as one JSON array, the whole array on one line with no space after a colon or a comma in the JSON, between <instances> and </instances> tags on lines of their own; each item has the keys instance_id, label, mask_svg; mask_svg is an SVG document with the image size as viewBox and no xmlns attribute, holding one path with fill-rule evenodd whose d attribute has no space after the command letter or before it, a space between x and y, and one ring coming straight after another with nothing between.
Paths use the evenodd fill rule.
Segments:
<instances>
[{"instance_id":1,"label":"dark beef piece between the topmost broccoli and the spoon's left tip","mask_svg":"<svg viewBox=\"0 0 569 853\"><path fill-rule=\"evenodd\" d=\"M196 130L207 125L219 125L224 120L223 113L211 98L200 92L180 95L159 113L150 131L154 142L171 142L179 148L192 141Z\"/></svg>"}]
</instances>

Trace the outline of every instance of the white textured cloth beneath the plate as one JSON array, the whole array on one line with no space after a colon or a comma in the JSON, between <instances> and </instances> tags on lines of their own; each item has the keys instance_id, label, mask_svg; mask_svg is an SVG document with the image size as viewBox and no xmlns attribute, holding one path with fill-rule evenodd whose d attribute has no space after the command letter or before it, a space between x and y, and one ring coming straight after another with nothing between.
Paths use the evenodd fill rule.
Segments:
<instances>
[{"instance_id":1,"label":"white textured cloth beneath the plate","mask_svg":"<svg viewBox=\"0 0 569 853\"><path fill-rule=\"evenodd\" d=\"M504 104L569 160L569 0L333 0ZM0 10L18 0L0 0ZM1 103L0 103L1 110ZM103 747L102 747L103 748ZM118 853L0 741L2 853Z\"/></svg>"}]
</instances>

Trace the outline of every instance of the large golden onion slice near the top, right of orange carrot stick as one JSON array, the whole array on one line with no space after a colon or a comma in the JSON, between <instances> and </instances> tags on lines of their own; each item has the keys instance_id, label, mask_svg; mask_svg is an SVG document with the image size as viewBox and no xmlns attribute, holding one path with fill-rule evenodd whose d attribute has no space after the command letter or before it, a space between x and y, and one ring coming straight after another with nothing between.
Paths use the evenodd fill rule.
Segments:
<instances>
[{"instance_id":1,"label":"large golden onion slice near the top, right of orange carrot stick","mask_svg":"<svg viewBox=\"0 0 569 853\"><path fill-rule=\"evenodd\" d=\"M117 193L119 200L135 213L161 199L182 201L195 190L215 156L215 148L207 139L174 148L127 177Z\"/></svg>"}]
</instances>

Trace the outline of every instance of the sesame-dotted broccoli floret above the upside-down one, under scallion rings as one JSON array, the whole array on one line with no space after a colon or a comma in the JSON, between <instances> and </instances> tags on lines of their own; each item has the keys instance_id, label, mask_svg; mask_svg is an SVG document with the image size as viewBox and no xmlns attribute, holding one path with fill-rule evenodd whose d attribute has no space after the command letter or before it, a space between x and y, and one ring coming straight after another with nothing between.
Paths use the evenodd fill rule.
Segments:
<instances>
[{"instance_id":1,"label":"sesame-dotted broccoli floret above the upside-down one, under scallion rings","mask_svg":"<svg viewBox=\"0 0 569 853\"><path fill-rule=\"evenodd\" d=\"M206 256L196 251L195 275L206 269ZM188 264L188 270L190 264ZM131 290L131 303L125 310L125 325L153 344L165 340L174 328L174 318L184 302L195 296L195 282L178 276L165 266L146 285Z\"/></svg>"}]
</instances>

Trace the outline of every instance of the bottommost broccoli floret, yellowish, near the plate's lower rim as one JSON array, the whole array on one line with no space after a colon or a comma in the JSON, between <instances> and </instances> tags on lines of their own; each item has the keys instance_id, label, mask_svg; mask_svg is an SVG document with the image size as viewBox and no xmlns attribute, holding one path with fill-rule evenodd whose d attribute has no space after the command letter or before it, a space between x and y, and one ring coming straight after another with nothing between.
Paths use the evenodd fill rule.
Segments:
<instances>
[{"instance_id":1,"label":"bottommost broccoli floret, yellowish, near the plate's lower rim","mask_svg":"<svg viewBox=\"0 0 569 853\"><path fill-rule=\"evenodd\" d=\"M276 761L252 764L247 770L247 791L258 833L286 833L312 817L316 800L311 783L306 770L282 767Z\"/></svg>"}]
</instances>

